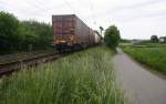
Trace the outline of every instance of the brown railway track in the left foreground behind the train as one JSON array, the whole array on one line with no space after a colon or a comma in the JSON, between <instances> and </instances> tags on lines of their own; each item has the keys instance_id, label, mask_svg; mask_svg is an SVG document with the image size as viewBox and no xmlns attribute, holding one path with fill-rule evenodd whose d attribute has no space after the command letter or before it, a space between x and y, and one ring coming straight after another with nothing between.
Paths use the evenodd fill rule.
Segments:
<instances>
[{"instance_id":1,"label":"brown railway track in the left foreground behind the train","mask_svg":"<svg viewBox=\"0 0 166 104\"><path fill-rule=\"evenodd\" d=\"M19 71L21 70L24 65L25 66L35 66L38 64L42 64L45 62L50 62L53 60L56 60L59 58L62 58L66 55L66 53L52 53L52 54L45 54L45 55L41 55L41 56L33 56L33 58L29 58L29 59L23 59L23 60L19 60L19 61L13 61L13 62L9 62L9 63L2 63L0 64L0 76L3 75L9 75L12 72Z\"/></svg>"}]
</instances>

